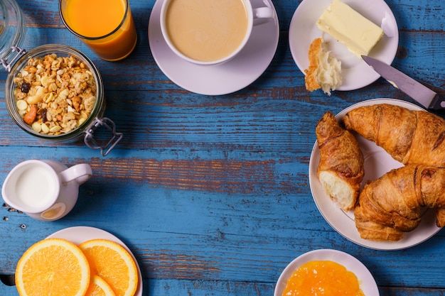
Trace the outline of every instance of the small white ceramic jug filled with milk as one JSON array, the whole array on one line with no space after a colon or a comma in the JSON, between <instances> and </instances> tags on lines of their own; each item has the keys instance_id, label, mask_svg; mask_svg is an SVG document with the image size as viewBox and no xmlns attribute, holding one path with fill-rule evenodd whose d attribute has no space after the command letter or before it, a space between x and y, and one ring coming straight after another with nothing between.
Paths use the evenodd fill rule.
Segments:
<instances>
[{"instance_id":1,"label":"small white ceramic jug filled with milk","mask_svg":"<svg viewBox=\"0 0 445 296\"><path fill-rule=\"evenodd\" d=\"M73 209L79 186L91 176L86 163L68 168L53 160L26 160L6 176L1 195L10 207L34 219L54 221Z\"/></svg>"}]
</instances>

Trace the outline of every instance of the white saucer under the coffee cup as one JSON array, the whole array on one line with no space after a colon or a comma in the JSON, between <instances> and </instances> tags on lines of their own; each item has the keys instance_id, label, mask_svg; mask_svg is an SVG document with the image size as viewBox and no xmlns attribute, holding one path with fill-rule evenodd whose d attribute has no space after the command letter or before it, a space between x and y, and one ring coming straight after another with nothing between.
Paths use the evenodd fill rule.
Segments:
<instances>
[{"instance_id":1,"label":"white saucer under the coffee cup","mask_svg":"<svg viewBox=\"0 0 445 296\"><path fill-rule=\"evenodd\" d=\"M247 87L269 67L278 46L277 13L274 21L254 27L239 55L222 65L205 67L182 60L168 48L159 21L162 3L163 0L156 1L149 20L151 54L161 71L183 89L197 94L230 94ZM264 4L274 9L270 0L252 0L254 8Z\"/></svg>"}]
</instances>

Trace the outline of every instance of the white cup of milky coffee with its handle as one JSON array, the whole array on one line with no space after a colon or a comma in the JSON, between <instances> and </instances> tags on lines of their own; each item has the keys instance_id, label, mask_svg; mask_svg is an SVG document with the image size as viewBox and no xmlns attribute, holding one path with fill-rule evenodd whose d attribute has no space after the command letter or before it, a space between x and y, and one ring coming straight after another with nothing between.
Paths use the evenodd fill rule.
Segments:
<instances>
[{"instance_id":1,"label":"white cup of milky coffee with its handle","mask_svg":"<svg viewBox=\"0 0 445 296\"><path fill-rule=\"evenodd\" d=\"M252 28L274 20L272 7L253 8L250 0L165 0L161 31L183 60L218 65L245 47Z\"/></svg>"}]
</instances>

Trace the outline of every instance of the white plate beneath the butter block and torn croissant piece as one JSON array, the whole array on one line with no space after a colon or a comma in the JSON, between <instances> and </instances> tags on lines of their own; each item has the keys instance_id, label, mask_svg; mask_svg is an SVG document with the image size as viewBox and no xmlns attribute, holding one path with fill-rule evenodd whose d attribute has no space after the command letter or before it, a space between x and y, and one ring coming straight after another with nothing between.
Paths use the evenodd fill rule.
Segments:
<instances>
[{"instance_id":1,"label":"white plate beneath the butter block and torn croissant piece","mask_svg":"<svg viewBox=\"0 0 445 296\"><path fill-rule=\"evenodd\" d=\"M399 45L399 29L390 7L383 0L343 0L343 3L348 4L352 9L383 29L385 35L369 55L391 64ZM304 70L309 67L309 45L313 39L323 37L331 55L341 60L343 83L337 90L360 89L375 82L380 75L372 70L364 60L351 53L345 45L327 33L323 33L317 27L318 18L330 4L331 0L303 0L297 7L289 26L289 46L292 57L301 72L304 73Z\"/></svg>"}]
</instances>

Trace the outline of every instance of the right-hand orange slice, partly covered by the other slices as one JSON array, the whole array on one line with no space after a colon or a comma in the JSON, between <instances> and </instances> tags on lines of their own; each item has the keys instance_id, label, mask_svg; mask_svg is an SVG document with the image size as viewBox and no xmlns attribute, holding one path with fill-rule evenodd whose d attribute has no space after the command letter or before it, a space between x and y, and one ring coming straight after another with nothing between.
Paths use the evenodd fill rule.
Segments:
<instances>
[{"instance_id":1,"label":"right-hand orange slice, partly covered by the other slices","mask_svg":"<svg viewBox=\"0 0 445 296\"><path fill-rule=\"evenodd\" d=\"M117 296L133 296L138 285L138 271L132 255L119 243L92 239L79 245L90 263L92 275L99 275Z\"/></svg>"}]
</instances>

